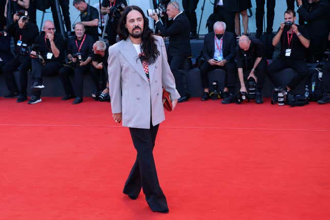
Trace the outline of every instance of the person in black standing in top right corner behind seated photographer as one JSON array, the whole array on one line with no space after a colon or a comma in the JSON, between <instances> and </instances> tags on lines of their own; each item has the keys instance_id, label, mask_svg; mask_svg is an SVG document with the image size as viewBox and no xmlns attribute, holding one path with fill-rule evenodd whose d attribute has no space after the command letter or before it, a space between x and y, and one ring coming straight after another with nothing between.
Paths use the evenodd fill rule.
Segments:
<instances>
[{"instance_id":1,"label":"person in black standing in top right corner behind seated photographer","mask_svg":"<svg viewBox=\"0 0 330 220\"><path fill-rule=\"evenodd\" d=\"M311 2L311 3L309 3ZM304 25L310 32L311 47L309 61L320 60L326 50L329 13L328 0L297 0L299 25Z\"/></svg>"}]
</instances>

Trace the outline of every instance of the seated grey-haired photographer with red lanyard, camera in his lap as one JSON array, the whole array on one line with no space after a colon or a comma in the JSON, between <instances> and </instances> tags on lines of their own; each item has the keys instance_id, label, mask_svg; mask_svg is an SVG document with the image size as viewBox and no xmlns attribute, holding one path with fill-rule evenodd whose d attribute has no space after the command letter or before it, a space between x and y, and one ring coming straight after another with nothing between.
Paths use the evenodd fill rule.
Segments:
<instances>
[{"instance_id":1,"label":"seated grey-haired photographer with red lanyard, camera in his lap","mask_svg":"<svg viewBox=\"0 0 330 220\"><path fill-rule=\"evenodd\" d=\"M63 83L65 96L62 100L68 100L76 96L73 104L82 102L83 76L91 69L91 53L94 39L85 34L84 25L75 24L75 37L68 39L67 57L71 67L64 66L59 70L59 77ZM69 75L74 74L74 89Z\"/></svg>"}]
</instances>

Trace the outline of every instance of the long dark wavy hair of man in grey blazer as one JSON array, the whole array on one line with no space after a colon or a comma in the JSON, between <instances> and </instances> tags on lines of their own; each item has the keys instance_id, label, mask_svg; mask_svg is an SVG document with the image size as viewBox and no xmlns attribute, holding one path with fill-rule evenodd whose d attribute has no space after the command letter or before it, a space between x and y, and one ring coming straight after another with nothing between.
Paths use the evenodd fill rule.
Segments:
<instances>
[{"instance_id":1,"label":"long dark wavy hair of man in grey blazer","mask_svg":"<svg viewBox=\"0 0 330 220\"><path fill-rule=\"evenodd\" d=\"M157 50L157 45L155 43L155 38L153 37L152 30L149 28L149 19L144 15L141 8L138 6L128 6L125 8L123 15L119 19L119 25L117 29L117 33L119 35L119 39L126 40L129 36L128 30L125 27L127 14L130 11L136 10L140 12L143 16L143 32L142 32L142 43L141 49L144 52L144 59L147 60L148 64L155 63L157 57L160 55L160 52Z\"/></svg>"}]
</instances>

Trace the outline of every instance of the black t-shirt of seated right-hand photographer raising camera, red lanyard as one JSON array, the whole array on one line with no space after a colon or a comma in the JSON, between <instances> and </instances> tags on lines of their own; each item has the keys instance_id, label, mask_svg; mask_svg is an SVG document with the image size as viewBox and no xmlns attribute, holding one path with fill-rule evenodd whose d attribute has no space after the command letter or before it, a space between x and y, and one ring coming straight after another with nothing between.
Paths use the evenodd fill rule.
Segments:
<instances>
[{"instance_id":1,"label":"black t-shirt of seated right-hand photographer raising camera, red lanyard","mask_svg":"<svg viewBox=\"0 0 330 220\"><path fill-rule=\"evenodd\" d=\"M310 34L304 26L297 25L297 27L298 27L298 31L301 33L302 36L304 36L306 39L310 39ZM292 34L293 34L293 36L291 34L289 34L289 40L292 37L290 47L289 47L288 31L287 30L283 31L283 33L281 35L281 39L280 39L280 43L281 43L280 58L285 59L285 60L304 59L306 56L306 48L302 45L298 36L294 32L292 32ZM285 56L285 50L287 50L287 49L291 49L290 56Z\"/></svg>"}]
</instances>

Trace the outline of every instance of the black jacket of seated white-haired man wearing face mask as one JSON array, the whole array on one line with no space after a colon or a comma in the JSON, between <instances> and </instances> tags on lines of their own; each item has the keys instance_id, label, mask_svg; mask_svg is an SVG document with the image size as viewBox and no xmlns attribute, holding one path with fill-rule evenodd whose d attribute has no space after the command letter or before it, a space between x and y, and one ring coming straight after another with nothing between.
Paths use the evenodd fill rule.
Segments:
<instances>
[{"instance_id":1,"label":"black jacket of seated white-haired man wearing face mask","mask_svg":"<svg viewBox=\"0 0 330 220\"><path fill-rule=\"evenodd\" d=\"M205 61L213 58L214 55L214 32L210 32L205 35L203 56ZM225 32L223 36L223 56L228 62L233 61L235 58L236 41L234 34L231 32Z\"/></svg>"}]
</instances>

